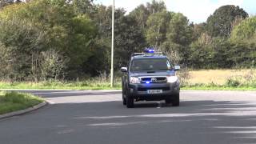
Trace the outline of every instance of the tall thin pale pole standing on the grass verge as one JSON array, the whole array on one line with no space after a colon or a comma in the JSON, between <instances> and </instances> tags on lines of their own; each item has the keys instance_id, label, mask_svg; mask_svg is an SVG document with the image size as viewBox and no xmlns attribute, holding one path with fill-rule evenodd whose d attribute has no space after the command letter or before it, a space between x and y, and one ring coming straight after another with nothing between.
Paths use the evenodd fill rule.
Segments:
<instances>
[{"instance_id":1,"label":"tall thin pale pole standing on the grass verge","mask_svg":"<svg viewBox=\"0 0 256 144\"><path fill-rule=\"evenodd\" d=\"M111 72L110 72L110 85L114 87L114 0L112 6L112 46L111 46Z\"/></svg>"}]
</instances>

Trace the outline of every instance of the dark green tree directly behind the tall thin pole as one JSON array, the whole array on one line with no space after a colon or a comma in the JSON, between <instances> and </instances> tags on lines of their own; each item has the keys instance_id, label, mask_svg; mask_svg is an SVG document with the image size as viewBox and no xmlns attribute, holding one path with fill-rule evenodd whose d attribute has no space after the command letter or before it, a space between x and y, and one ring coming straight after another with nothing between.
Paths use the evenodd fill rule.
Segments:
<instances>
[{"instance_id":1,"label":"dark green tree directly behind the tall thin pole","mask_svg":"<svg viewBox=\"0 0 256 144\"><path fill-rule=\"evenodd\" d=\"M114 43L114 68L126 66L130 55L136 51L141 51L146 45L146 40L142 29L133 16L125 15L123 9L115 10L115 43ZM111 7L99 5L97 13L94 15L94 22L98 26L98 44L105 47L105 70L109 73L110 67L110 46L111 46Z\"/></svg>"}]
</instances>

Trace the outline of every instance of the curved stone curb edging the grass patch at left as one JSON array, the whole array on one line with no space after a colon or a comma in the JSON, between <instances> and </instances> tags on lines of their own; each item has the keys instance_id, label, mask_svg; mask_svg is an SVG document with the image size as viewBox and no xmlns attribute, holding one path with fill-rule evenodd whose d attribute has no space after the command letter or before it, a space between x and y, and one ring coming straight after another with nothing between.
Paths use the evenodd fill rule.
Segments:
<instances>
[{"instance_id":1,"label":"curved stone curb edging the grass patch at left","mask_svg":"<svg viewBox=\"0 0 256 144\"><path fill-rule=\"evenodd\" d=\"M18 111L10 112L10 113L7 113L7 114L0 114L0 119L10 118L10 117L13 117L13 116L16 116L16 115L21 115L21 114L26 114L26 113L29 113L30 111L38 110L39 108L42 108L43 106L46 106L47 104L48 104L48 102L42 102L42 103L39 103L36 106L29 107L25 110L18 110Z\"/></svg>"}]
</instances>

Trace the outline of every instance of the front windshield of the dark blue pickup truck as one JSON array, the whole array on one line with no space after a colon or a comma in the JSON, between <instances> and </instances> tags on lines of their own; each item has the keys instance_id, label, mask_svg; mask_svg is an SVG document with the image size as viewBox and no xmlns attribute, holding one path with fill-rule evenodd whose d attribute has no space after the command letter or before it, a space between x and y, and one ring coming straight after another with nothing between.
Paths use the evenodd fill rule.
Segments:
<instances>
[{"instance_id":1,"label":"front windshield of the dark blue pickup truck","mask_svg":"<svg viewBox=\"0 0 256 144\"><path fill-rule=\"evenodd\" d=\"M170 68L170 62L166 58L142 58L132 61L130 71L170 70Z\"/></svg>"}]
</instances>

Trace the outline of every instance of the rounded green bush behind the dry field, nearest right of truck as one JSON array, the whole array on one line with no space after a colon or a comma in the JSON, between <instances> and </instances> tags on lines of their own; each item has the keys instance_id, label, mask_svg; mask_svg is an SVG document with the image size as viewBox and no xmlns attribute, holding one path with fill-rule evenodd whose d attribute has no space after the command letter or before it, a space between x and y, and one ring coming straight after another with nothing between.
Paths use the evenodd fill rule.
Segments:
<instances>
[{"instance_id":1,"label":"rounded green bush behind the dry field, nearest right of truck","mask_svg":"<svg viewBox=\"0 0 256 144\"><path fill-rule=\"evenodd\" d=\"M196 69L230 68L230 42L204 33L190 45L190 66Z\"/></svg>"}]
</instances>

